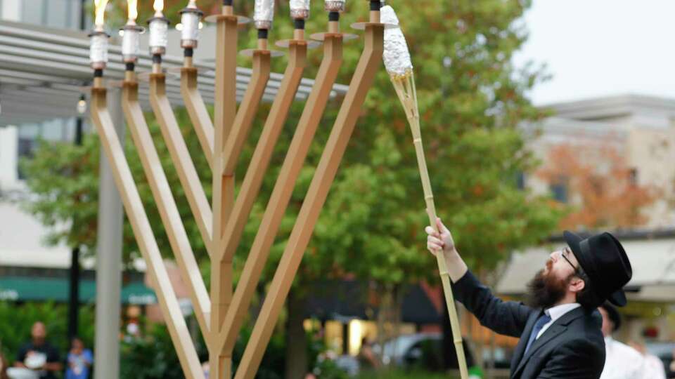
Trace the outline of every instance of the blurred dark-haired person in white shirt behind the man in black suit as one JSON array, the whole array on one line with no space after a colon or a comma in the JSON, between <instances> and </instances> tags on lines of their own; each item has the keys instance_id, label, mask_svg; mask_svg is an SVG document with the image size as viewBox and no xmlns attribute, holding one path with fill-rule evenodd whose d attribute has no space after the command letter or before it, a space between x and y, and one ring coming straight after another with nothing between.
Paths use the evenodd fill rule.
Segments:
<instances>
[{"instance_id":1,"label":"blurred dark-haired person in white shirt behind the man in black suit","mask_svg":"<svg viewBox=\"0 0 675 379\"><path fill-rule=\"evenodd\" d=\"M605 368L600 379L656 379L643 376L645 359L640 352L612 338L612 333L621 326L621 315L617 309L605 302L598 310L603 315L602 329L605 336Z\"/></svg>"}]
</instances>

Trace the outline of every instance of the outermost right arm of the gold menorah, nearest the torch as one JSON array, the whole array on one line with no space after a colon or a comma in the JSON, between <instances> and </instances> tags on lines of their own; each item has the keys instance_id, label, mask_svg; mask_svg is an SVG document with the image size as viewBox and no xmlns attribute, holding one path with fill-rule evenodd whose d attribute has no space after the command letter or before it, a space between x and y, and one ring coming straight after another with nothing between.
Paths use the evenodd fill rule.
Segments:
<instances>
[{"instance_id":1,"label":"outermost right arm of the gold menorah, nearest the torch","mask_svg":"<svg viewBox=\"0 0 675 379\"><path fill-rule=\"evenodd\" d=\"M371 20L379 21L379 12L371 14ZM326 143L326 148L316 168L314 178L311 180L307 196L304 198L300 214L297 217L293 232L290 234L288 244L283 252L281 261L272 279L269 293L265 297L262 310L255 321L251 338L246 345L243 357L235 379L252 379L262 361L264 349L269 343L274 326L278 319L281 307L288 296L293 278L300 266L302 255L307 244L319 213L326 201L330 185L338 172L338 166L347 149L347 142L354 131L356 120L359 118L361 106L366 100L368 88L373 83L375 73L382 60L384 25L369 23L366 25L366 46L361 54L356 72L349 84L349 91L340 107L338 118L335 120L333 131Z\"/></svg>"}]
</instances>

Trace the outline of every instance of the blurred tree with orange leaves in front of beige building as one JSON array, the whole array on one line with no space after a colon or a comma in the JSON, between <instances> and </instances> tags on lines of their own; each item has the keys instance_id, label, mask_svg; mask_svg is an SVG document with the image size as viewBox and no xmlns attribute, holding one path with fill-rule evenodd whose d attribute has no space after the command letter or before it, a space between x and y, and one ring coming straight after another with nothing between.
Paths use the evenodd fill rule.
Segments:
<instances>
[{"instance_id":1,"label":"blurred tree with orange leaves in front of beige building","mask_svg":"<svg viewBox=\"0 0 675 379\"><path fill-rule=\"evenodd\" d=\"M565 229L644 225L645 210L660 194L657 187L638 183L638 171L613 145L555 146L537 175L554 192L565 192L570 204L560 221Z\"/></svg>"}]
</instances>

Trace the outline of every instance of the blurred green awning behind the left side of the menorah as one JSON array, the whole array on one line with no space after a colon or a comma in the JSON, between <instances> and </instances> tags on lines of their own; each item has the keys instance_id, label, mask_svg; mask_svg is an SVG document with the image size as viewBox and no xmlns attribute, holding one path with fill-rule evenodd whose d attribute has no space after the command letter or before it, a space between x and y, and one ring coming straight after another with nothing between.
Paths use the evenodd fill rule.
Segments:
<instances>
[{"instance_id":1,"label":"blurred green awning behind the left side of the menorah","mask_svg":"<svg viewBox=\"0 0 675 379\"><path fill-rule=\"evenodd\" d=\"M0 300L8 301L68 301L67 278L4 277L0 278ZM79 281L79 301L96 301L96 281ZM122 287L124 304L155 304L155 292L141 282Z\"/></svg>"}]
</instances>

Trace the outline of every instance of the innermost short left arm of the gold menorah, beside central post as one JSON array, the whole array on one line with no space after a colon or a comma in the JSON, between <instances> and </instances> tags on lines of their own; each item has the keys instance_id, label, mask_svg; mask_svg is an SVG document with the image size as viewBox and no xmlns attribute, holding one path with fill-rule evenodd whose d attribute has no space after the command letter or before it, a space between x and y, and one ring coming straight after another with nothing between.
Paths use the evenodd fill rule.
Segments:
<instances>
[{"instance_id":1,"label":"innermost short left arm of the gold menorah, beside central post","mask_svg":"<svg viewBox=\"0 0 675 379\"><path fill-rule=\"evenodd\" d=\"M181 69L181 94L206 160L213 169L213 123L197 88L197 69L195 67Z\"/></svg>"}]
</instances>

